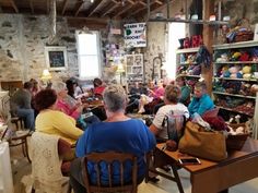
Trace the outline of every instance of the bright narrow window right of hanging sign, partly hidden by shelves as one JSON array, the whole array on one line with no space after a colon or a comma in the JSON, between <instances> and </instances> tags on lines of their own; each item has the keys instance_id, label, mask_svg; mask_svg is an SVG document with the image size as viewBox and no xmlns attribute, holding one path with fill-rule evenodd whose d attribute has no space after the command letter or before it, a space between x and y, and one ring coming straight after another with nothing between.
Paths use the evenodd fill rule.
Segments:
<instances>
[{"instance_id":1,"label":"bright narrow window right of hanging sign, partly hidden by shelves","mask_svg":"<svg viewBox=\"0 0 258 193\"><path fill-rule=\"evenodd\" d=\"M178 49L178 39L186 37L186 24L185 23L169 23L168 25L168 57L166 72L169 79L176 77L176 50Z\"/></svg>"}]
</instances>

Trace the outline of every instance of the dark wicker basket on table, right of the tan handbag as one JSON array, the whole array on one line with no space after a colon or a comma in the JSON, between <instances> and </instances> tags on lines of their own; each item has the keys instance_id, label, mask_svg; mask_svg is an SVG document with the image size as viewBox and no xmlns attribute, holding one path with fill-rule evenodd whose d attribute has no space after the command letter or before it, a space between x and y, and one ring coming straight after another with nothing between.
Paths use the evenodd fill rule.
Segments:
<instances>
[{"instance_id":1,"label":"dark wicker basket on table, right of the tan handbag","mask_svg":"<svg viewBox=\"0 0 258 193\"><path fill-rule=\"evenodd\" d=\"M249 136L249 132L246 130L245 123L239 123L239 124L230 124L233 130L236 130L239 126L243 126L244 134L237 134L237 135L228 135L226 138L226 148L227 149L234 149L234 150L239 150L244 146L246 138Z\"/></svg>"}]
</instances>

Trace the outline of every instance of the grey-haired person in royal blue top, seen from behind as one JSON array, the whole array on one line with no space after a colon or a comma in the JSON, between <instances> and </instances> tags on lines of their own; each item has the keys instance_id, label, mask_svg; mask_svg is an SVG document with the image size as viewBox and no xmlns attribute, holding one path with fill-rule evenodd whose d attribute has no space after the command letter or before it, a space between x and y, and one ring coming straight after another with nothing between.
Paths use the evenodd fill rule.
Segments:
<instances>
[{"instance_id":1,"label":"grey-haired person in royal blue top, seen from behind","mask_svg":"<svg viewBox=\"0 0 258 193\"><path fill-rule=\"evenodd\" d=\"M120 85L110 85L105 88L104 106L107 114L105 122L94 123L89 126L77 143L77 156L79 157L71 164L70 184L74 193L86 192L84 178L82 174L82 158L93 152L120 152L130 153L138 157L138 183L142 182L145 176L145 153L155 147L154 135L146 125L137 119L125 116L127 95ZM91 181L95 181L94 173L87 166ZM103 168L102 182L107 183L107 168ZM129 172L131 168L125 168L125 183L131 181ZM128 174L127 174L128 173ZM113 183L117 184L119 177Z\"/></svg>"}]
</instances>

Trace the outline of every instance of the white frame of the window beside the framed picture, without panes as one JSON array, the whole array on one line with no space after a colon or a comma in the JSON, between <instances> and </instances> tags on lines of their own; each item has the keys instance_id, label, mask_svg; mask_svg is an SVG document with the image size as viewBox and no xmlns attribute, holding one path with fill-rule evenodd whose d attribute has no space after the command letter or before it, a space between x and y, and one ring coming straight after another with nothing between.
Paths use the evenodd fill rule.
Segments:
<instances>
[{"instance_id":1,"label":"white frame of the window beside the framed picture, without panes","mask_svg":"<svg viewBox=\"0 0 258 193\"><path fill-rule=\"evenodd\" d=\"M97 48L97 63L98 63L98 75L90 75L90 76L83 76L82 68L81 68L81 56L92 56L92 55L80 55L79 53L79 35L81 31L75 32L75 37L77 37L77 51L78 51L78 65L79 65L79 77L81 80L93 80L95 77L101 77L102 76L102 55L101 55L101 35L99 32L97 31L91 31L91 33L96 34L96 48Z\"/></svg>"}]
</instances>

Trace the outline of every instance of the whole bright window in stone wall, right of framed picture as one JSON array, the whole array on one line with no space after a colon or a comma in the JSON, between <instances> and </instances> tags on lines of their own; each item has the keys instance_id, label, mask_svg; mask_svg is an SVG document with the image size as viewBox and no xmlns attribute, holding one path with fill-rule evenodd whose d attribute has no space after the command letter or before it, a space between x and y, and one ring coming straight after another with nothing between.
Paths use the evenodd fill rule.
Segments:
<instances>
[{"instance_id":1,"label":"whole bright window in stone wall, right of framed picture","mask_svg":"<svg viewBox=\"0 0 258 193\"><path fill-rule=\"evenodd\" d=\"M91 80L101 76L99 34L77 32L79 75Z\"/></svg>"}]
</instances>

